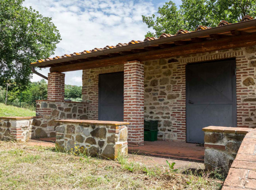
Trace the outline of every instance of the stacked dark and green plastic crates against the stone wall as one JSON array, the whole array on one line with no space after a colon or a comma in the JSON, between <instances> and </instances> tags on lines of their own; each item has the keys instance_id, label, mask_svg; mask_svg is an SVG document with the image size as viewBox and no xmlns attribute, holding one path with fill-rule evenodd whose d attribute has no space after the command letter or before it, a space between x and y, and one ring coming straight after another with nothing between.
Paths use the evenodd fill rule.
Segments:
<instances>
[{"instance_id":1,"label":"stacked dark and green plastic crates against the stone wall","mask_svg":"<svg viewBox=\"0 0 256 190\"><path fill-rule=\"evenodd\" d=\"M145 121L144 120L144 141L157 140L157 126L158 121Z\"/></svg>"}]
</instances>

